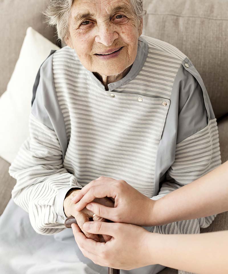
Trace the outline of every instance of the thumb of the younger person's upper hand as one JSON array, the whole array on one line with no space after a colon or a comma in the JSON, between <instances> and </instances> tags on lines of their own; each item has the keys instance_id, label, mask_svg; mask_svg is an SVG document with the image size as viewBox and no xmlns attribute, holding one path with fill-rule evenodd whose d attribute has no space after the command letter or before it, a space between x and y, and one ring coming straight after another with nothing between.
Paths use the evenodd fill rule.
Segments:
<instances>
[{"instance_id":1,"label":"thumb of the younger person's upper hand","mask_svg":"<svg viewBox=\"0 0 228 274\"><path fill-rule=\"evenodd\" d=\"M117 208L104 206L99 203L89 203L86 205L86 208L95 213L97 216L116 222L115 220L115 211Z\"/></svg>"}]
</instances>

